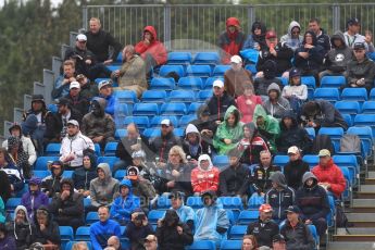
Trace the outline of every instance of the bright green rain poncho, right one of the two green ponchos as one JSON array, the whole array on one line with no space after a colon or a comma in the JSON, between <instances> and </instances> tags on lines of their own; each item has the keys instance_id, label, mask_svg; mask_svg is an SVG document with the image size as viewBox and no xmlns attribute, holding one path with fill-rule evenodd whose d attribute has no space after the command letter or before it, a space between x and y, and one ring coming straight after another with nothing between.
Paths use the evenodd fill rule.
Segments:
<instances>
[{"instance_id":1,"label":"bright green rain poncho, right one of the two green ponchos","mask_svg":"<svg viewBox=\"0 0 375 250\"><path fill-rule=\"evenodd\" d=\"M257 118L262 116L264 120L263 125L258 125ZM254 116L252 118L254 123L257 123L259 133L264 136L271 145L271 151L276 151L276 143L275 140L280 134L280 127L278 121L271 115L267 115L264 108L262 105L257 105L254 110Z\"/></svg>"}]
</instances>

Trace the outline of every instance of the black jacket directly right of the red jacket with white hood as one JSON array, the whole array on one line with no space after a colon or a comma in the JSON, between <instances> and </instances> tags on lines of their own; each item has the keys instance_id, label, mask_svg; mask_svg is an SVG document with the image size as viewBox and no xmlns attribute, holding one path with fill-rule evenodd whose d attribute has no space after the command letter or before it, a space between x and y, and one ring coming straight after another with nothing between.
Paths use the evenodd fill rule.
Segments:
<instances>
[{"instance_id":1,"label":"black jacket directly right of the red jacket with white hood","mask_svg":"<svg viewBox=\"0 0 375 250\"><path fill-rule=\"evenodd\" d=\"M229 197L243 195L250 188L248 178L249 171L241 164L237 167L228 166L220 173L220 192L221 196Z\"/></svg>"}]
</instances>

